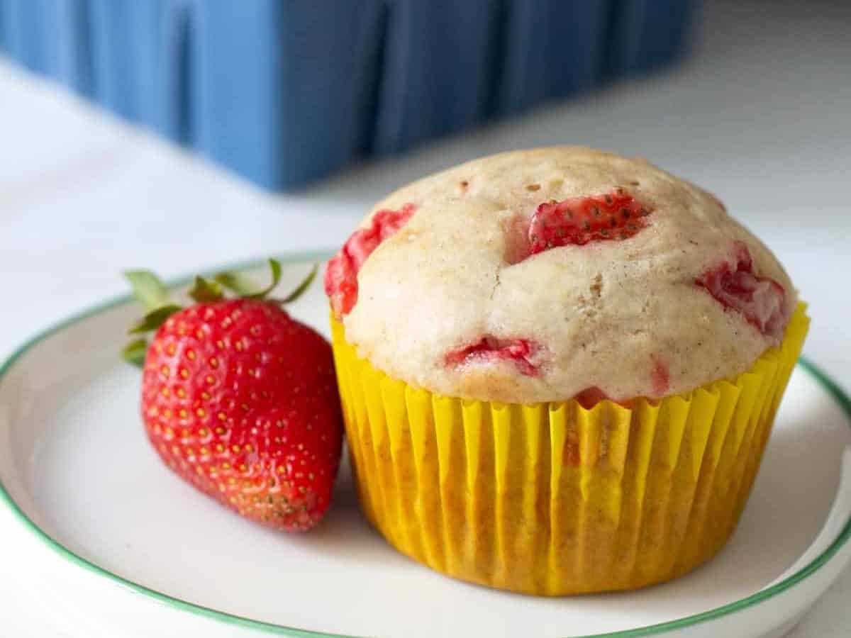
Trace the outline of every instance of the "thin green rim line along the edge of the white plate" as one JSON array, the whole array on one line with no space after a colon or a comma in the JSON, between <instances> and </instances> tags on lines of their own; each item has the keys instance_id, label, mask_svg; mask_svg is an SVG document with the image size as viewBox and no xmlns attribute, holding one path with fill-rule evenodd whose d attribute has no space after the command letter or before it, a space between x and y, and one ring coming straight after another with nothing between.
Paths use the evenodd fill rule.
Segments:
<instances>
[{"instance_id":1,"label":"thin green rim line along the edge of the white plate","mask_svg":"<svg viewBox=\"0 0 851 638\"><path fill-rule=\"evenodd\" d=\"M305 261L326 259L330 252L331 251L328 250L319 250L310 251L306 253L289 253L287 255L279 257L278 259L282 263L296 264ZM214 269L214 271L248 270L260 267L260 265L264 263L265 262L263 260L255 259L252 261L243 262L241 264L227 265L224 268ZM179 277L169 282L169 285L183 286L191 282L191 279L192 276ZM74 325L75 323L82 322L90 316L98 315L101 312L111 310L112 308L118 305L123 305L131 301L133 301L133 298L129 294L122 295L121 297L117 297L116 299L110 299L102 304L95 305L94 307L89 308L88 310L83 310L83 312L70 316L63 321L54 324L54 326L46 328L42 332L37 333L35 336L31 337L31 339L27 340L26 343L20 345L20 347L15 350L5 362L3 362L3 365L0 366L0 384L3 383L3 379L5 378L6 374L9 373L9 370L14 366L14 363L17 362L21 356L26 354L28 350L42 342L44 339L48 339L52 334L58 333L61 330L68 328L71 325ZM848 416L849 425L851 425L851 397L849 397L844 390L842 390L832 379L830 379L827 374L822 372L819 367L816 367L814 363L802 358L801 361L798 362L798 366L801 367L801 369L805 372L809 373L836 400L836 402L842 408L842 411ZM34 533L38 538L41 538L43 542L47 544L51 549L58 552L60 555L66 557L72 563L75 563L79 567L88 569L91 572L100 574L100 576L109 578L117 584L122 584L125 587L129 587L129 589L139 592L140 594L149 596L150 598L162 602L168 605L169 607L175 607L177 609L181 609L187 612L192 612L199 616L203 616L205 618L212 618L223 623L237 625L246 629L257 629L271 634L293 636L321 636L322 638L355 638L354 636L348 636L343 634L326 634L321 631L311 631L310 629L298 629L295 627L287 627L280 624L265 623L260 620L252 620L251 618L244 618L243 616L237 616L235 614L227 612L220 612L216 609L211 609L210 607L202 607L200 605L195 605L194 603L188 601L182 601L180 600L180 598L174 598L174 596L163 594L163 592L161 591L151 590L150 588L145 587L144 585L134 583L133 581L128 580L127 578L123 578L116 573L109 572L103 567L95 565L93 562L83 558L83 556L75 554L74 552L69 550L65 545L60 544L59 542L54 540L54 538L51 538L48 533L44 532L43 529L38 527L29 518L29 516L26 516L24 511L20 509L20 506L14 502L14 499L11 497L11 495L9 495L9 492L7 492L6 487L3 485L3 481L0 481L0 500L2 500L3 503L9 506L9 509L14 512L14 514L20 519L20 521L24 524L25 527L29 528L29 530ZM707 612L700 612L692 616L686 616L685 618L677 618L677 620L670 620L665 623L651 624L646 627L639 627L637 629L625 629L624 631L615 631L608 634L577 636L577 638L637 638L637 636L659 635L664 634L667 631L672 631L674 629L683 629L685 627L690 627L694 624L700 624L705 621L712 620L714 618L721 618L722 616L727 616L728 614L734 612L740 612L741 610L746 609L747 607L751 607L762 601L767 601L769 598L773 598L775 595L778 595L781 592L788 590L793 585L800 583L804 578L808 578L810 574L818 571L820 567L824 566L825 563L829 561L831 557L833 557L833 555L836 555L837 551L842 548L842 545L848 542L848 538L851 538L851 517L848 518L848 521L845 521L845 525L842 527L842 531L839 533L837 538L830 544L830 546L828 546L827 549L821 552L820 555L816 556L813 561L810 561L808 565L802 567L788 578L784 578L780 581L780 583L774 584L765 590L757 591L756 594L749 595L745 598L740 599L739 601L734 601L728 603L727 605L722 605L722 607L716 607L715 609L711 609Z\"/></svg>"}]
</instances>

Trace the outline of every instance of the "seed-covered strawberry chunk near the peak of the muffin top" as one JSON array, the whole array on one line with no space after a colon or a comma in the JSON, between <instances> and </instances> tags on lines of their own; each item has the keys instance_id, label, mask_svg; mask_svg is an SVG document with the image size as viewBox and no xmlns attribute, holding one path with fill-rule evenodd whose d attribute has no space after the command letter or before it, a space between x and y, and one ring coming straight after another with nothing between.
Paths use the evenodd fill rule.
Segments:
<instances>
[{"instance_id":1,"label":"seed-covered strawberry chunk near the peak of the muffin top","mask_svg":"<svg viewBox=\"0 0 851 638\"><path fill-rule=\"evenodd\" d=\"M623 189L540 204L529 226L531 254L560 246L629 239L648 225L650 210Z\"/></svg>"}]
</instances>

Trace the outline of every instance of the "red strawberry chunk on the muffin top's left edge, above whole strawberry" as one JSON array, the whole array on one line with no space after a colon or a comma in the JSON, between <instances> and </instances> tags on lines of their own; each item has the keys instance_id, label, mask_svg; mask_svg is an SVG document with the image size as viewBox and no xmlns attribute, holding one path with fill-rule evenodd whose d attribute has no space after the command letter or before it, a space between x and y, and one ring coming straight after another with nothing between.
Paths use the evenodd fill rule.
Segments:
<instances>
[{"instance_id":1,"label":"red strawberry chunk on the muffin top's left edge, above whole strawberry","mask_svg":"<svg viewBox=\"0 0 851 638\"><path fill-rule=\"evenodd\" d=\"M357 304L357 272L363 262L388 237L395 235L414 214L414 204L399 210L380 210L373 215L368 228L353 232L340 252L328 261L325 269L325 293L338 319Z\"/></svg>"}]
</instances>

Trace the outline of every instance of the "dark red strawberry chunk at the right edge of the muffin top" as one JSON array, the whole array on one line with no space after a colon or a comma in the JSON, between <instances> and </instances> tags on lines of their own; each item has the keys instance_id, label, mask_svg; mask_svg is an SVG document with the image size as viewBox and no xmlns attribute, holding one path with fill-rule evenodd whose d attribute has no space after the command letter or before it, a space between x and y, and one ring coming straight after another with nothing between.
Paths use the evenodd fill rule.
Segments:
<instances>
[{"instance_id":1,"label":"dark red strawberry chunk at the right edge of the muffin top","mask_svg":"<svg viewBox=\"0 0 851 638\"><path fill-rule=\"evenodd\" d=\"M762 334L782 338L787 319L785 290L774 279L754 273L751 253L743 242L735 243L735 263L725 261L705 271L696 283Z\"/></svg>"}]
</instances>

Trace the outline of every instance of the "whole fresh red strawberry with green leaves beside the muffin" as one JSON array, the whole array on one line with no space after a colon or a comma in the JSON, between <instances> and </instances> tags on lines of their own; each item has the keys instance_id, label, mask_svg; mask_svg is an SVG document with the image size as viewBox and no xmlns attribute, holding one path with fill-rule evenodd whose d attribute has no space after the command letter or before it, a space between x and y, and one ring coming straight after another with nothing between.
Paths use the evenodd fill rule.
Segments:
<instances>
[{"instance_id":1,"label":"whole fresh red strawberry with green leaves beside the muffin","mask_svg":"<svg viewBox=\"0 0 851 638\"><path fill-rule=\"evenodd\" d=\"M142 419L163 461L203 493L270 527L304 531L322 518L340 464L343 425L331 348L241 276L197 277L187 308L148 271L126 273L149 309L124 349L143 366ZM225 299L223 288L240 295Z\"/></svg>"}]
</instances>

